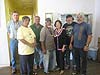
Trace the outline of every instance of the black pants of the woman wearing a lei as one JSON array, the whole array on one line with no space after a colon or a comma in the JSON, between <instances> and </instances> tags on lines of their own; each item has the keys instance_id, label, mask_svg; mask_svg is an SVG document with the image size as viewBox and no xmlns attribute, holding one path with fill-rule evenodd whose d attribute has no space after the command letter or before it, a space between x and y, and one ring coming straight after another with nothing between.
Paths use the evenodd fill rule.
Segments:
<instances>
[{"instance_id":1,"label":"black pants of the woman wearing a lei","mask_svg":"<svg viewBox=\"0 0 100 75\"><path fill-rule=\"evenodd\" d=\"M57 66L61 70L64 70L64 52L62 52L61 50L56 50L56 61Z\"/></svg>"}]
</instances>

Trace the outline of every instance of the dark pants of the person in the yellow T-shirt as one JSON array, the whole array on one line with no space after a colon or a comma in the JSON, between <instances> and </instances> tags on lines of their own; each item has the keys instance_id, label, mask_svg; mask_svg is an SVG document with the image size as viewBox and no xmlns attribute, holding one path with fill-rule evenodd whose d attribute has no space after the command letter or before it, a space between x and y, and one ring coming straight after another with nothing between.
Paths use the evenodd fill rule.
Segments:
<instances>
[{"instance_id":1,"label":"dark pants of the person in the yellow T-shirt","mask_svg":"<svg viewBox=\"0 0 100 75\"><path fill-rule=\"evenodd\" d=\"M34 55L20 55L20 72L21 75L33 75Z\"/></svg>"}]
</instances>

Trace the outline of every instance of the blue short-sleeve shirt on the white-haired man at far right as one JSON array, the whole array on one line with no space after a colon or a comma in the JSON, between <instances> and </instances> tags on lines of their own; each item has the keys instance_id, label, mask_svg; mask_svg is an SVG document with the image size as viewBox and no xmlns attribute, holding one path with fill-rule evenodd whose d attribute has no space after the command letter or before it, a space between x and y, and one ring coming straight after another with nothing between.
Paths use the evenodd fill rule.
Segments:
<instances>
[{"instance_id":1,"label":"blue short-sleeve shirt on the white-haired man at far right","mask_svg":"<svg viewBox=\"0 0 100 75\"><path fill-rule=\"evenodd\" d=\"M92 34L92 28L90 24L85 22L76 24L73 29L74 47L83 48L87 42L88 35Z\"/></svg>"}]
</instances>

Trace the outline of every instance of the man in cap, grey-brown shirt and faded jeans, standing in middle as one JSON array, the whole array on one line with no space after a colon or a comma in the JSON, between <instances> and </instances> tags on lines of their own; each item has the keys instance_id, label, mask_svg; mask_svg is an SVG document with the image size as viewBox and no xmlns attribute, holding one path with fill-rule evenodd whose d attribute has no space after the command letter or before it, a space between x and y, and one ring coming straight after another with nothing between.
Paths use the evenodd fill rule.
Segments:
<instances>
[{"instance_id":1,"label":"man in cap, grey-brown shirt and faded jeans, standing in middle","mask_svg":"<svg viewBox=\"0 0 100 75\"><path fill-rule=\"evenodd\" d=\"M51 19L45 19L45 26L40 32L40 42L43 52L43 65L44 73L48 74L49 70L55 68L55 43L54 43L54 30L51 25Z\"/></svg>"}]
</instances>

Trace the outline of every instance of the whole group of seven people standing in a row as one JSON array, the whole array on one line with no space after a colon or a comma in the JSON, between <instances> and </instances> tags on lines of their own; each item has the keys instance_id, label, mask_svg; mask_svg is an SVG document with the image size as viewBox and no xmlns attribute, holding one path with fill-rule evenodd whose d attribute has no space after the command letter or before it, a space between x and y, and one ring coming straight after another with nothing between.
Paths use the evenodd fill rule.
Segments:
<instances>
[{"instance_id":1,"label":"whole group of seven people standing in a row","mask_svg":"<svg viewBox=\"0 0 100 75\"><path fill-rule=\"evenodd\" d=\"M34 17L33 25L28 26L29 22L28 16L19 21L18 12L14 11L12 20L7 25L12 73L17 71L18 49L21 75L37 75L38 67L43 68L45 74L59 70L62 75L64 69L70 68L71 52L75 74L87 75L87 52L92 40L92 29L90 24L84 22L83 13L77 15L77 22L74 22L72 15L66 16L64 25L56 20L54 28L50 18L45 19L44 26L40 24L39 16Z\"/></svg>"}]
</instances>

